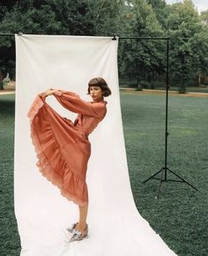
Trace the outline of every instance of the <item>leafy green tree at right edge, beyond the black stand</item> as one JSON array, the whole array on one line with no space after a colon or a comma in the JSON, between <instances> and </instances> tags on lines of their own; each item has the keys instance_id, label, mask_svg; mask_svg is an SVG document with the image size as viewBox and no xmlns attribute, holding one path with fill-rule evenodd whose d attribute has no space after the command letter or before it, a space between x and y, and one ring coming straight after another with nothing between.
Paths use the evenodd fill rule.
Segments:
<instances>
[{"instance_id":1,"label":"leafy green tree at right edge, beyond the black stand","mask_svg":"<svg viewBox=\"0 0 208 256\"><path fill-rule=\"evenodd\" d=\"M170 75L172 83L184 93L193 84L199 72L207 66L207 36L204 34L198 13L189 0L172 4L168 15L167 28L171 40ZM200 49L200 47L201 49ZM204 54L203 54L204 53ZM207 56L207 55L206 55Z\"/></svg>"}]
</instances>

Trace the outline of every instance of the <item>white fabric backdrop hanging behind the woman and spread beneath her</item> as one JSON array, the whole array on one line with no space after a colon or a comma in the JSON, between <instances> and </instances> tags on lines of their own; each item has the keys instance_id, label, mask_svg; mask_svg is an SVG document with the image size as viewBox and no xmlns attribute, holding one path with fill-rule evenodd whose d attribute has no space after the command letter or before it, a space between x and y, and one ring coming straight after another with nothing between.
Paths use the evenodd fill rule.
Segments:
<instances>
[{"instance_id":1,"label":"white fabric backdrop hanging behind the woman and spread beneath her","mask_svg":"<svg viewBox=\"0 0 208 256\"><path fill-rule=\"evenodd\" d=\"M14 199L23 256L175 255L137 212L127 167L117 75L117 41L110 37L16 35ZM89 237L67 243L66 228L78 221L78 206L41 176L27 111L36 94L52 87L86 95L87 82L103 77L112 90L108 113L89 139L92 154L86 183ZM49 104L64 117L76 114L56 99Z\"/></svg>"}]
</instances>

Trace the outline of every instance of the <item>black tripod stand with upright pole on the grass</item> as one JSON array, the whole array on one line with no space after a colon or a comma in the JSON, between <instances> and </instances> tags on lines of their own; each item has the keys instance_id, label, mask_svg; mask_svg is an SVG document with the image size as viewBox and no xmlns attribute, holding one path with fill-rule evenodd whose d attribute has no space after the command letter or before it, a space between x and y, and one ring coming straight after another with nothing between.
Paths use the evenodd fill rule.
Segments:
<instances>
[{"instance_id":1,"label":"black tripod stand with upright pole on the grass","mask_svg":"<svg viewBox=\"0 0 208 256\"><path fill-rule=\"evenodd\" d=\"M160 180L160 185L159 185L158 194L157 194L156 199L159 198L160 187L161 187L162 182L172 181L172 182L182 182L182 183L189 184L189 182L187 182L184 178L180 177L173 170L171 170L167 167L167 136L169 135L169 133L167 132L167 106L168 106L168 90L169 90L169 63L168 62L169 62L169 38L167 38L165 166L162 167L158 172L156 172L155 174L153 174L151 177L147 178L143 182L143 184L145 184L145 182L147 182L151 178ZM179 179L168 179L167 178L167 171L169 171L170 173L172 173L175 177L178 177ZM159 173L161 173L161 176L156 177ZM164 174L164 177L163 177L163 174ZM193 189L198 191L197 188L195 186L193 186L192 184L189 184L189 186L191 186Z\"/></svg>"}]
</instances>

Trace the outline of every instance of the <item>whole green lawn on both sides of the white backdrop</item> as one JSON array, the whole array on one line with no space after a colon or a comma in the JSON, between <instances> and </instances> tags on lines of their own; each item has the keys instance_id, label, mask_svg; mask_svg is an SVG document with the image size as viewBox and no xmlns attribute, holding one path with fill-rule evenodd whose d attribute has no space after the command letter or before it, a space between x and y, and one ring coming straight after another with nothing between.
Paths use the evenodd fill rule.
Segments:
<instances>
[{"instance_id":1,"label":"whole green lawn on both sides of the white backdrop","mask_svg":"<svg viewBox=\"0 0 208 256\"><path fill-rule=\"evenodd\" d=\"M142 182L164 165L165 95L122 92L121 105L139 213L179 256L207 256L208 98L169 96L167 165L199 192L188 184L163 183L158 200L159 181ZM13 206L14 95L0 96L0 117L0 255L19 256Z\"/></svg>"}]
</instances>

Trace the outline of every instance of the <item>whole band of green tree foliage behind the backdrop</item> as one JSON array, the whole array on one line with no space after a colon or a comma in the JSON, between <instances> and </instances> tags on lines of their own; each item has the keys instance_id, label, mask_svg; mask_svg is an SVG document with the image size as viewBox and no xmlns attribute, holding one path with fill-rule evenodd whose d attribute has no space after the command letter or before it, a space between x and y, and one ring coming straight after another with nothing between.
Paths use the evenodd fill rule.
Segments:
<instances>
[{"instance_id":1,"label":"whole band of green tree foliage behind the backdrop","mask_svg":"<svg viewBox=\"0 0 208 256\"><path fill-rule=\"evenodd\" d=\"M208 73L207 11L190 0L1 1L0 32L120 37L170 37L170 84L187 87ZM0 71L14 77L14 38L0 37ZM119 74L147 84L165 83L166 41L120 40ZM153 85L154 87L155 85Z\"/></svg>"}]
</instances>

